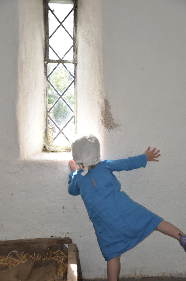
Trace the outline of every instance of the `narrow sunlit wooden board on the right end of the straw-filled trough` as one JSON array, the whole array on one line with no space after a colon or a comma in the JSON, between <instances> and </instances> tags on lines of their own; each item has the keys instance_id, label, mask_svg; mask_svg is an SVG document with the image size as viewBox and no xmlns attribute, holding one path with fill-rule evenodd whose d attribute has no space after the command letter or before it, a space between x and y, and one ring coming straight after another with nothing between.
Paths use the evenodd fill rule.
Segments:
<instances>
[{"instance_id":1,"label":"narrow sunlit wooden board on the right end of the straw-filled trough","mask_svg":"<svg viewBox=\"0 0 186 281\"><path fill-rule=\"evenodd\" d=\"M77 245L68 245L67 281L77 281Z\"/></svg>"}]
</instances>

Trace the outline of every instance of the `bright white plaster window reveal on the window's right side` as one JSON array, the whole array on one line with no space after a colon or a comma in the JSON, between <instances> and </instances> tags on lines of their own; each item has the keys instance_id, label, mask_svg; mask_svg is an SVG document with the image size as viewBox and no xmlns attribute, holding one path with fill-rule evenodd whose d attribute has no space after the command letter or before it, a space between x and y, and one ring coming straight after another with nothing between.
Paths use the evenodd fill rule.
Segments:
<instances>
[{"instance_id":1,"label":"bright white plaster window reveal on the window's right side","mask_svg":"<svg viewBox=\"0 0 186 281\"><path fill-rule=\"evenodd\" d=\"M104 130L100 127L100 109L105 92L100 0L78 2L77 52L77 132L101 138Z\"/></svg>"}]
</instances>

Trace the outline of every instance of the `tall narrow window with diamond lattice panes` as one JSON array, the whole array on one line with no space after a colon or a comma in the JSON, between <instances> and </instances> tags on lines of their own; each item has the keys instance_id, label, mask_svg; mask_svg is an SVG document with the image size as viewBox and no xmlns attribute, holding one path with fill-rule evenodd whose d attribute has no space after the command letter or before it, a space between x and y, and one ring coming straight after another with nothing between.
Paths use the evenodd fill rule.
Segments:
<instances>
[{"instance_id":1,"label":"tall narrow window with diamond lattice panes","mask_svg":"<svg viewBox=\"0 0 186 281\"><path fill-rule=\"evenodd\" d=\"M69 151L75 134L77 0L44 0L46 150Z\"/></svg>"}]
</instances>

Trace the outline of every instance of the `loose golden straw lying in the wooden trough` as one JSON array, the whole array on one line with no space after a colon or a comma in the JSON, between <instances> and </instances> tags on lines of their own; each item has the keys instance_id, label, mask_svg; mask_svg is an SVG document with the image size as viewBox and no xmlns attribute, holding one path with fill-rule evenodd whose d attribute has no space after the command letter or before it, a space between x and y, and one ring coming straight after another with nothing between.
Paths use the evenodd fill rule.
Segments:
<instances>
[{"instance_id":1,"label":"loose golden straw lying in the wooden trough","mask_svg":"<svg viewBox=\"0 0 186 281\"><path fill-rule=\"evenodd\" d=\"M46 258L43 258L40 254L24 254L24 252L19 253L15 249L10 252L7 256L0 256L0 265L1 266L8 266L12 267L15 265L23 264L28 260L35 260L39 261L40 259L46 260L46 259L52 259L57 263L57 276L63 277L63 273L67 270L67 264L68 264L68 258L66 254L61 252L60 250L56 252L51 252L50 254L47 253Z\"/></svg>"}]
</instances>

